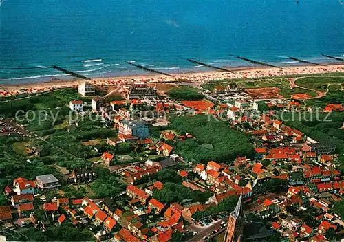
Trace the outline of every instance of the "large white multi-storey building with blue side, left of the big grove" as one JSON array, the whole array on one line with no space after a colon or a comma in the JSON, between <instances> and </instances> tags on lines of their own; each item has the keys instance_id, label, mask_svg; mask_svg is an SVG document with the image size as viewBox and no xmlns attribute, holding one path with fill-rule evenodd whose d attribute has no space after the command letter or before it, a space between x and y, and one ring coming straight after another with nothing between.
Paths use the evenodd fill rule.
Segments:
<instances>
[{"instance_id":1,"label":"large white multi-storey building with blue side, left of the big grove","mask_svg":"<svg viewBox=\"0 0 344 242\"><path fill-rule=\"evenodd\" d=\"M141 122L122 120L119 123L120 135L132 135L139 139L145 139L149 136L148 126Z\"/></svg>"}]
</instances>

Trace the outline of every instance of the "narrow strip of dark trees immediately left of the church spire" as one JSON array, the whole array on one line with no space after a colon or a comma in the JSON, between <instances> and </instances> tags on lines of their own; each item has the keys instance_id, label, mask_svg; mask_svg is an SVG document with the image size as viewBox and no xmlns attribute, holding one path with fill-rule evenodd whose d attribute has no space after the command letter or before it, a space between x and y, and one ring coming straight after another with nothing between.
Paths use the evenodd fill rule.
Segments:
<instances>
[{"instance_id":1,"label":"narrow strip of dark trees immediately left of the church spire","mask_svg":"<svg viewBox=\"0 0 344 242\"><path fill-rule=\"evenodd\" d=\"M211 206L206 208L205 211L197 211L193 214L193 219L200 220L204 217L212 216L218 214L219 212L232 212L237 205L238 198L235 196L226 197L224 200L220 201L217 206Z\"/></svg>"}]
</instances>

